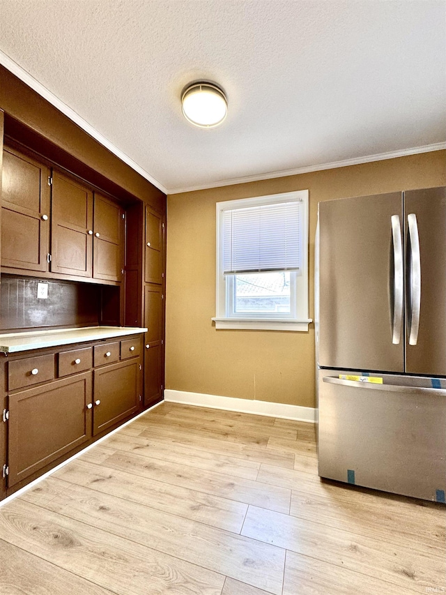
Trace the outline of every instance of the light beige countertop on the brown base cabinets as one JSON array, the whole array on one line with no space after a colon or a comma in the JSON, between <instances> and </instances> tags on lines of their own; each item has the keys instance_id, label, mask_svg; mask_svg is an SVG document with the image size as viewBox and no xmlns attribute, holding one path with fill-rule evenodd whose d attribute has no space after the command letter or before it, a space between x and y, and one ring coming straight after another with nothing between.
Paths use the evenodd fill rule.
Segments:
<instances>
[{"instance_id":1,"label":"light beige countertop on the brown base cabinets","mask_svg":"<svg viewBox=\"0 0 446 595\"><path fill-rule=\"evenodd\" d=\"M29 349L57 347L84 341L125 337L145 333L147 329L137 326L84 326L80 329L52 329L49 331L25 331L0 335L0 353L16 353Z\"/></svg>"}]
</instances>

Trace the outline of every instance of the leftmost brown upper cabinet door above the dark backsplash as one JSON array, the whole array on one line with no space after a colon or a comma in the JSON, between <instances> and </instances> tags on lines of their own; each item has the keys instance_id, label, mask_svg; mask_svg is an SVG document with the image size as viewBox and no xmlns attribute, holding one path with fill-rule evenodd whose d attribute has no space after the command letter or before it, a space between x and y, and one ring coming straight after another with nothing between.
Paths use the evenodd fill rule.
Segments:
<instances>
[{"instance_id":1,"label":"leftmost brown upper cabinet door above the dark backsplash","mask_svg":"<svg viewBox=\"0 0 446 595\"><path fill-rule=\"evenodd\" d=\"M49 169L14 149L3 151L1 266L46 271Z\"/></svg>"}]
</instances>

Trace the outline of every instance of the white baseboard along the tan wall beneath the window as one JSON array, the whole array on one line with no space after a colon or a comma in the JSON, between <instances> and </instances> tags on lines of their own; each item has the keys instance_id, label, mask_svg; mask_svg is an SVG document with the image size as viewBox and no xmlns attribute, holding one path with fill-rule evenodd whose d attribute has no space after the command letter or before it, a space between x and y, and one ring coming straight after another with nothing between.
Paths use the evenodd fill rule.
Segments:
<instances>
[{"instance_id":1,"label":"white baseboard along the tan wall beneath the window","mask_svg":"<svg viewBox=\"0 0 446 595\"><path fill-rule=\"evenodd\" d=\"M285 405L284 403L269 401L187 393L186 391L172 391L170 389L164 390L164 400L171 403L182 403L183 405L196 405L198 407L210 407L210 409L224 409L225 411L280 417L309 423L314 423L316 419L316 409L314 407Z\"/></svg>"}]
</instances>

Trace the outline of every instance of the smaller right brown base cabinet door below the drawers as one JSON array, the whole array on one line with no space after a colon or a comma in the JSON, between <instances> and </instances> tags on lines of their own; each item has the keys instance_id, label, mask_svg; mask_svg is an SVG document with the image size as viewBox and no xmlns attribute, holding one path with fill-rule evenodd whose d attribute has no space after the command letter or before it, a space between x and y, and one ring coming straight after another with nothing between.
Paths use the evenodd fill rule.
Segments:
<instances>
[{"instance_id":1,"label":"smaller right brown base cabinet door below the drawers","mask_svg":"<svg viewBox=\"0 0 446 595\"><path fill-rule=\"evenodd\" d=\"M93 436L139 407L139 358L94 370Z\"/></svg>"}]
</instances>

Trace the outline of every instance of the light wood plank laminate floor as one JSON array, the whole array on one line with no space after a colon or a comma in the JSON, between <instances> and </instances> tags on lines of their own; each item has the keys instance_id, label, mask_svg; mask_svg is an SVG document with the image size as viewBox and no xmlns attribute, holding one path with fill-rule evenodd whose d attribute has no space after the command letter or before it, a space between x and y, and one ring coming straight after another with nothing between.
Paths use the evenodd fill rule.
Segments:
<instances>
[{"instance_id":1,"label":"light wood plank laminate floor","mask_svg":"<svg viewBox=\"0 0 446 595\"><path fill-rule=\"evenodd\" d=\"M443 593L445 525L321 481L311 424L163 403L0 508L0 593Z\"/></svg>"}]
</instances>

